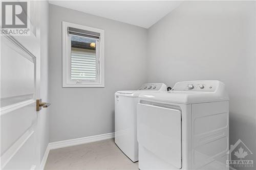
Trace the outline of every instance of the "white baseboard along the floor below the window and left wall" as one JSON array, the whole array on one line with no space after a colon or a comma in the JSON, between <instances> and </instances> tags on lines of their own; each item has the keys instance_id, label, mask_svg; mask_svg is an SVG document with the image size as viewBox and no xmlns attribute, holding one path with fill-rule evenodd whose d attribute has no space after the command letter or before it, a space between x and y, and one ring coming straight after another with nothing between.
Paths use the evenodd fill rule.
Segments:
<instances>
[{"instance_id":1,"label":"white baseboard along the floor below the window and left wall","mask_svg":"<svg viewBox=\"0 0 256 170\"><path fill-rule=\"evenodd\" d=\"M88 137L81 137L76 139L70 139L70 140L61 140L57 142L50 142L48 144L48 147L46 149L44 158L42 158L41 161L41 169L45 168L46 160L48 158L50 150L58 149L58 148L65 148L65 147L71 147L74 145L84 144L84 143L91 143L95 141L105 140L105 139L111 139L115 137L115 133L106 133L101 135L95 135L95 136L88 136Z\"/></svg>"}]
</instances>

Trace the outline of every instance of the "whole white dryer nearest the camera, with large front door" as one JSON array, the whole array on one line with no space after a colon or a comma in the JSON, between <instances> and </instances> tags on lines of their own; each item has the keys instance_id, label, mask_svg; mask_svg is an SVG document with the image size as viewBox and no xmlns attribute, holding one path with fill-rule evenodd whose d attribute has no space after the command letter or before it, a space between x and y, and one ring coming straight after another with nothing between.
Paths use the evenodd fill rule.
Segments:
<instances>
[{"instance_id":1,"label":"whole white dryer nearest the camera, with large front door","mask_svg":"<svg viewBox=\"0 0 256 170\"><path fill-rule=\"evenodd\" d=\"M139 169L228 169L228 101L220 81L178 82L168 92L141 93Z\"/></svg>"}]
</instances>

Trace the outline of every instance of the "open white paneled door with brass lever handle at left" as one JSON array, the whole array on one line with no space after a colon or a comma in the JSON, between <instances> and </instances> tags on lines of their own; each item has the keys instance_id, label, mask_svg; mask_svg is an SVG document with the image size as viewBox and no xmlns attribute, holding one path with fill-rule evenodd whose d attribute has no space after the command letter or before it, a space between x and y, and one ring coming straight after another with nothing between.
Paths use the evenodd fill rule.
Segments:
<instances>
[{"instance_id":1,"label":"open white paneled door with brass lever handle at left","mask_svg":"<svg viewBox=\"0 0 256 170\"><path fill-rule=\"evenodd\" d=\"M1 169L35 169L40 164L37 9L31 2L30 36L1 36Z\"/></svg>"}]
</instances>

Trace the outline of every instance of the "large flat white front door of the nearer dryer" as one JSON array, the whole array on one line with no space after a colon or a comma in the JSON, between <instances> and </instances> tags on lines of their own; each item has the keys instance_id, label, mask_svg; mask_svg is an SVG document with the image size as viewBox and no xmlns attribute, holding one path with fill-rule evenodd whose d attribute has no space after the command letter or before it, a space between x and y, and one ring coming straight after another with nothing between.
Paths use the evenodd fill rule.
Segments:
<instances>
[{"instance_id":1,"label":"large flat white front door of the nearer dryer","mask_svg":"<svg viewBox=\"0 0 256 170\"><path fill-rule=\"evenodd\" d=\"M153 105L137 105L139 145L162 161L181 168L181 111Z\"/></svg>"}]
</instances>

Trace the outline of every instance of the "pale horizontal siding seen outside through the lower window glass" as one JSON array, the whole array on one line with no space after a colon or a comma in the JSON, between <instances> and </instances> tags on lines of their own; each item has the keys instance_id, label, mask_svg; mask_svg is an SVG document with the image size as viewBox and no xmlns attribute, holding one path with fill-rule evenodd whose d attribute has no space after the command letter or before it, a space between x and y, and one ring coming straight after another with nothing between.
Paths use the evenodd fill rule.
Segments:
<instances>
[{"instance_id":1,"label":"pale horizontal siding seen outside through the lower window glass","mask_svg":"<svg viewBox=\"0 0 256 170\"><path fill-rule=\"evenodd\" d=\"M71 80L96 80L96 54L71 51Z\"/></svg>"}]
</instances>

